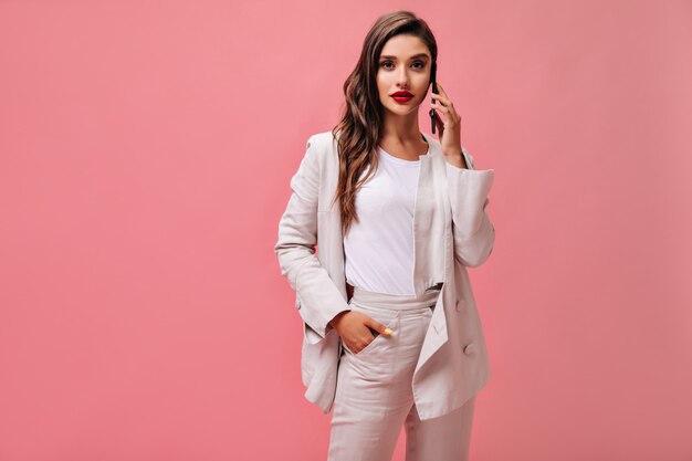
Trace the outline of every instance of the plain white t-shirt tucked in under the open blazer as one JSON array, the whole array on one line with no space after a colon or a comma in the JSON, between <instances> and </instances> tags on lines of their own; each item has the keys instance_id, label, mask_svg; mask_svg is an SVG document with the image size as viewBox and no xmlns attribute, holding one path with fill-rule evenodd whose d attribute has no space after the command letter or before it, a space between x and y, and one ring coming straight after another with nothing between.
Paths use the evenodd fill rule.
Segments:
<instances>
[{"instance_id":1,"label":"plain white t-shirt tucked in under the open blazer","mask_svg":"<svg viewBox=\"0 0 692 461\"><path fill-rule=\"evenodd\" d=\"M373 292L412 295L420 160L397 158L381 147L378 155L377 170L356 195L359 222L354 220L344 238L346 281Z\"/></svg>"}]
</instances>

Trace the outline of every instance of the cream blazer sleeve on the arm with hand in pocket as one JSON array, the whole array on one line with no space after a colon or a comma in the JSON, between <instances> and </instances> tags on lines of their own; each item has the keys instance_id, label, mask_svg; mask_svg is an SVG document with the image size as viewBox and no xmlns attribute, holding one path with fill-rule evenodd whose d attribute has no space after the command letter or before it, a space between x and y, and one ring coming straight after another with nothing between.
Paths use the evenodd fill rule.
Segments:
<instances>
[{"instance_id":1,"label":"cream blazer sleeve on the arm with hand in pocket","mask_svg":"<svg viewBox=\"0 0 692 461\"><path fill-rule=\"evenodd\" d=\"M307 139L305 155L291 178L293 193L279 222L274 253L281 274L296 292L295 306L306 324L307 337L315 344L333 328L329 321L350 307L315 255L321 169L313 138L314 135Z\"/></svg>"}]
</instances>

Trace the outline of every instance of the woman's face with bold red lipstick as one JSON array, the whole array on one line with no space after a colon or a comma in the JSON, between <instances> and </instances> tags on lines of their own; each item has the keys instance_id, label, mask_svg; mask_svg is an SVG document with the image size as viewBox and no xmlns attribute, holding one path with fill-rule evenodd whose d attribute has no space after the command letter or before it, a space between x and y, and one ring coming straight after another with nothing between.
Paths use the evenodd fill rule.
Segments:
<instances>
[{"instance_id":1,"label":"woman's face with bold red lipstick","mask_svg":"<svg viewBox=\"0 0 692 461\"><path fill-rule=\"evenodd\" d=\"M382 48L377 67L379 101L387 112L406 115L417 112L430 83L431 56L426 43L413 35L395 35ZM395 98L409 92L412 97Z\"/></svg>"}]
</instances>

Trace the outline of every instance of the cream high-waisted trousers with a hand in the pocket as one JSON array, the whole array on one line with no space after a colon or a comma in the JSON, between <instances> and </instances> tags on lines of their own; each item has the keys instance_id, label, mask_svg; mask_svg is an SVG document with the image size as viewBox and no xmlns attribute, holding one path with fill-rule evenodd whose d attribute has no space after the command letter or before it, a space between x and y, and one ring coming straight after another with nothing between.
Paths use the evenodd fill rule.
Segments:
<instances>
[{"instance_id":1,"label":"cream high-waisted trousers with a hand in the pocket","mask_svg":"<svg viewBox=\"0 0 692 461\"><path fill-rule=\"evenodd\" d=\"M412 377L439 292L422 298L354 289L353 311L394 331L354 354L342 343L327 461L390 461L401 427L406 461L466 461L475 397L421 421Z\"/></svg>"}]
</instances>

